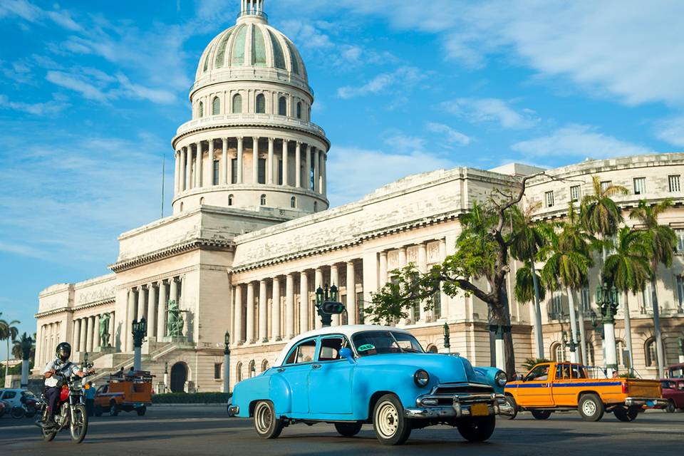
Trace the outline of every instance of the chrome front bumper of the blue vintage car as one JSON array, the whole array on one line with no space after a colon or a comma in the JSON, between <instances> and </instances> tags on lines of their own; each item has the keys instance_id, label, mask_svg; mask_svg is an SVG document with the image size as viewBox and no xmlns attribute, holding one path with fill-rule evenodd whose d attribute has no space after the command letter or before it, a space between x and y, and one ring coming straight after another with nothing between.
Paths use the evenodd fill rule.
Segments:
<instances>
[{"instance_id":1,"label":"chrome front bumper of the blue vintage car","mask_svg":"<svg viewBox=\"0 0 684 456\"><path fill-rule=\"evenodd\" d=\"M440 405L450 400L450 405ZM513 415L513 408L506 402L504 395L497 393L423 395L416 400L416 407L405 408L406 418L461 418L471 416L473 405L487 405L487 415Z\"/></svg>"}]
</instances>

